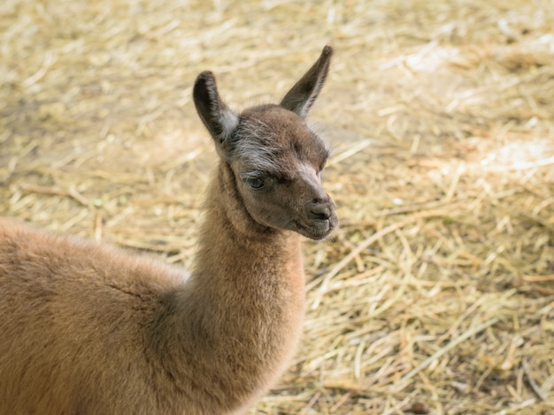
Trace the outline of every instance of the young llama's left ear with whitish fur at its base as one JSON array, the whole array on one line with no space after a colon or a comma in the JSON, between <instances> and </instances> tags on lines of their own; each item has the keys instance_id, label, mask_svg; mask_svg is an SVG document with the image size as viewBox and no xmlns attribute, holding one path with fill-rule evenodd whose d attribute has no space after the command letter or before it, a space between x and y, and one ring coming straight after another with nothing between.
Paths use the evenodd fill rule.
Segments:
<instances>
[{"instance_id":1,"label":"young llama's left ear with whitish fur at its base","mask_svg":"<svg viewBox=\"0 0 554 415\"><path fill-rule=\"evenodd\" d=\"M219 97L212 72L205 71L198 75L192 95L198 116L212 135L219 155L227 156L239 117Z\"/></svg>"}]
</instances>

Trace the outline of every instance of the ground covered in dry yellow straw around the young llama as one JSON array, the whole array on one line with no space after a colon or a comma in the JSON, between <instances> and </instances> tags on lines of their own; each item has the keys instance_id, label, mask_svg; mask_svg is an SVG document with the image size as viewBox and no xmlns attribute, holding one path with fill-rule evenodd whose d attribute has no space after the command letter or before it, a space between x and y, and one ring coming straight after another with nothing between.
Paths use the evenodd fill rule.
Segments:
<instances>
[{"instance_id":1,"label":"ground covered in dry yellow straw around the young llama","mask_svg":"<svg viewBox=\"0 0 554 415\"><path fill-rule=\"evenodd\" d=\"M251 413L554 413L551 0L4 0L0 215L189 266L196 74L276 101L326 43L342 226L304 245L304 341Z\"/></svg>"}]
</instances>

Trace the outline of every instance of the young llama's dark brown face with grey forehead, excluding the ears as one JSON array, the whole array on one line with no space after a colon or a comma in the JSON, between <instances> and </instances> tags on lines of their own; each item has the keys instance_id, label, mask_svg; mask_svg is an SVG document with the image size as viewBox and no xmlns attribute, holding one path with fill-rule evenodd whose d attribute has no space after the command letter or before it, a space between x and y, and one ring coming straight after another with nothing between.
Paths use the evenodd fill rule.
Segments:
<instances>
[{"instance_id":1,"label":"young llama's dark brown face with grey forehead, excluding the ears","mask_svg":"<svg viewBox=\"0 0 554 415\"><path fill-rule=\"evenodd\" d=\"M335 202L321 185L327 156L303 118L267 105L242 113L228 162L256 222L321 239L338 223Z\"/></svg>"}]
</instances>

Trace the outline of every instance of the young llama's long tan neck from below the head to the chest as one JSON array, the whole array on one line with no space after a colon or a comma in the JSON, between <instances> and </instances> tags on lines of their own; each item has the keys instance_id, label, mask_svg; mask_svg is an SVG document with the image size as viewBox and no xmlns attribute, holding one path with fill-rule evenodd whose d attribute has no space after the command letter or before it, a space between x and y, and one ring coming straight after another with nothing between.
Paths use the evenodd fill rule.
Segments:
<instances>
[{"instance_id":1,"label":"young llama's long tan neck from below the head to the chest","mask_svg":"<svg viewBox=\"0 0 554 415\"><path fill-rule=\"evenodd\" d=\"M263 392L295 349L304 315L300 240L254 223L225 163L204 207L193 273L168 296L153 335L174 379L198 382L232 407Z\"/></svg>"}]
</instances>

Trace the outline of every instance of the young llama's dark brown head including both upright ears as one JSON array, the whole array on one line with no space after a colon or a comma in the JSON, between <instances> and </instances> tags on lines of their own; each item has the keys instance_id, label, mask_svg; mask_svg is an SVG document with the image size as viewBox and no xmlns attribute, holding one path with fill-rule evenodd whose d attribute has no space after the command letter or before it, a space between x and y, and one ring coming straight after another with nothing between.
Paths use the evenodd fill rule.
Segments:
<instances>
[{"instance_id":1,"label":"young llama's dark brown head including both upright ears","mask_svg":"<svg viewBox=\"0 0 554 415\"><path fill-rule=\"evenodd\" d=\"M296 82L280 104L236 114L219 97L212 72L196 79L194 101L219 156L233 170L244 207L257 223L327 237L338 223L321 186L328 151L305 117L323 87L332 49Z\"/></svg>"}]
</instances>

